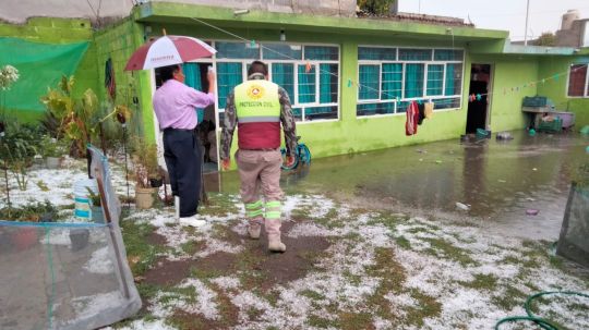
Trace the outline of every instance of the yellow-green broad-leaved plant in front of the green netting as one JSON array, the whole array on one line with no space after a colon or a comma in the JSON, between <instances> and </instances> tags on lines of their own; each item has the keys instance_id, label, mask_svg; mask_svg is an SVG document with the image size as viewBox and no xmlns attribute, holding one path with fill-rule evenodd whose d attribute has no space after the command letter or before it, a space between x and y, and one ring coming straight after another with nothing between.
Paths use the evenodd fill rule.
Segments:
<instances>
[{"instance_id":1,"label":"yellow-green broad-leaved plant in front of the green netting","mask_svg":"<svg viewBox=\"0 0 589 330\"><path fill-rule=\"evenodd\" d=\"M82 98L75 99L72 96L74 77L62 76L58 88L49 88L41 97L41 102L47 110L59 122L56 137L68 137L74 143L77 156L83 156L85 146L91 142L95 133L95 125L92 121L98 109L98 98L91 89L86 89Z\"/></svg>"}]
</instances>

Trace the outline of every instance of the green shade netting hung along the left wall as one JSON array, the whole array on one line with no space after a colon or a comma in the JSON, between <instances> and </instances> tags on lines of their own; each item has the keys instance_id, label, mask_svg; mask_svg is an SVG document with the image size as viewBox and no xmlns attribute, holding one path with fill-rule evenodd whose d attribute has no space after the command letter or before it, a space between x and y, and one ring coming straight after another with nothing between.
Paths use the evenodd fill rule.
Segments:
<instances>
[{"instance_id":1,"label":"green shade netting hung along the left wall","mask_svg":"<svg viewBox=\"0 0 589 330\"><path fill-rule=\"evenodd\" d=\"M7 109L44 112L39 98L48 87L56 87L62 75L72 75L88 42L40 44L19 38L0 37L0 66L19 70L19 80L10 90L2 90Z\"/></svg>"}]
</instances>

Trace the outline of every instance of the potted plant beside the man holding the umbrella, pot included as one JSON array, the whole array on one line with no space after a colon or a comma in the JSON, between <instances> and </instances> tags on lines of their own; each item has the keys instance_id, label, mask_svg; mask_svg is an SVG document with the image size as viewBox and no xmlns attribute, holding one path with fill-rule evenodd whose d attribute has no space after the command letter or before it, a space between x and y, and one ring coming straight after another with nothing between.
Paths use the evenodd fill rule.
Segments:
<instances>
[{"instance_id":1,"label":"potted plant beside the man holding the umbrella, pot included","mask_svg":"<svg viewBox=\"0 0 589 330\"><path fill-rule=\"evenodd\" d=\"M133 145L133 166L135 169L135 207L147 209L154 205L158 187L152 185L152 179L160 179L157 164L157 146L136 138ZM154 183L157 183L154 180Z\"/></svg>"}]
</instances>

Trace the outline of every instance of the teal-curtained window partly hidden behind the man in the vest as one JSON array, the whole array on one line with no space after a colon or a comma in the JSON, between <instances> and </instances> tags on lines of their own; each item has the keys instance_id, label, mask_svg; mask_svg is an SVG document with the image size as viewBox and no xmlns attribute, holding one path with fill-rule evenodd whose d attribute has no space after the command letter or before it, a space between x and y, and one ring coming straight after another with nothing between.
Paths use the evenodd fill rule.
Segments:
<instances>
[{"instance_id":1,"label":"teal-curtained window partly hidden behind the man in the vest","mask_svg":"<svg viewBox=\"0 0 589 330\"><path fill-rule=\"evenodd\" d=\"M298 121L339 118L339 47L232 41L214 46L221 117L227 95L247 80L248 65L262 59L268 64L271 81L288 93Z\"/></svg>"}]
</instances>

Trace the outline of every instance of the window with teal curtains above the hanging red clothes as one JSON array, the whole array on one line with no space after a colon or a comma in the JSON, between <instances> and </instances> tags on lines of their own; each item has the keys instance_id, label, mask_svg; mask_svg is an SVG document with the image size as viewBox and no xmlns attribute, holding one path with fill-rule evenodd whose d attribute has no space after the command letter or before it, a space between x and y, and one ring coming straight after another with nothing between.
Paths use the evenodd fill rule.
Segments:
<instances>
[{"instance_id":1,"label":"window with teal curtains above the hanging red clothes","mask_svg":"<svg viewBox=\"0 0 589 330\"><path fill-rule=\"evenodd\" d=\"M357 115L401 113L413 100L459 108L464 57L457 49L359 47Z\"/></svg>"}]
</instances>

